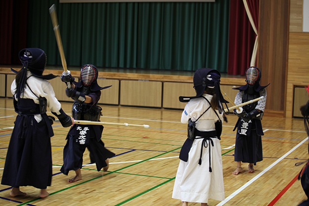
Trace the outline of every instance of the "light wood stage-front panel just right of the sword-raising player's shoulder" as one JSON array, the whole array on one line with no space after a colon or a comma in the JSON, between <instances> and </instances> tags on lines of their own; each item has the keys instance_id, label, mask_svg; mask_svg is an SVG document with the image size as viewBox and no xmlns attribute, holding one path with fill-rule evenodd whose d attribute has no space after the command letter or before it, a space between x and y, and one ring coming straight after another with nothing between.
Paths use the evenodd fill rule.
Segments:
<instances>
[{"instance_id":1,"label":"light wood stage-front panel just right of the sword-raising player's shoulder","mask_svg":"<svg viewBox=\"0 0 309 206\"><path fill-rule=\"evenodd\" d=\"M101 87L112 85L107 89L101 90L99 103L119 104L119 80L98 78L98 84Z\"/></svg>"}]
</instances>

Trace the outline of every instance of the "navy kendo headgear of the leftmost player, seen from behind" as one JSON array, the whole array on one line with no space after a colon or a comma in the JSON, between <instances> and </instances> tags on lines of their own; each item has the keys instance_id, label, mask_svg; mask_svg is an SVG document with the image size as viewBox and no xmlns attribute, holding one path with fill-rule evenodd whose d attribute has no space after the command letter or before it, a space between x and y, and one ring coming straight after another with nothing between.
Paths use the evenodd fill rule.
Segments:
<instances>
[{"instance_id":1,"label":"navy kendo headgear of the leftmost player, seen from behind","mask_svg":"<svg viewBox=\"0 0 309 206\"><path fill-rule=\"evenodd\" d=\"M26 79L27 79L27 70L35 77L43 79L52 79L57 76L53 74L43 76L43 71L46 65L46 54L43 50L39 48L27 48L19 52L19 59L23 64L21 69L20 82L16 91L17 97L19 98L21 93L24 92ZM11 68L11 71L18 73L16 70Z\"/></svg>"}]
</instances>

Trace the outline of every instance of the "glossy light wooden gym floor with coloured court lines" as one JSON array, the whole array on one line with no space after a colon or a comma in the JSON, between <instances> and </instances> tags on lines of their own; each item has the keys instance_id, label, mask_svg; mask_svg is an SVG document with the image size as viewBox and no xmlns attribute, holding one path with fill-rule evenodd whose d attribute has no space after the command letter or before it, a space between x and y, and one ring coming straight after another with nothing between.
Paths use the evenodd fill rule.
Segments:
<instances>
[{"instance_id":1,"label":"glossy light wooden gym floor with coloured court lines","mask_svg":"<svg viewBox=\"0 0 309 206\"><path fill-rule=\"evenodd\" d=\"M72 103L62 103L70 114ZM101 105L103 122L146 124L150 129L106 125L102 140L116 156L110 159L107 172L97 172L84 154L82 180L68 183L74 176L63 175L62 153L68 128L54 123L52 140L52 186L50 196L38 198L39 189L21 187L26 197L9 196L11 187L0 185L1 206L180 206L172 199L179 152L186 139L186 125L180 123L181 110L137 108ZM16 113L12 99L0 98L0 176L2 177L7 147ZM308 159L308 141L302 119L264 117L263 161L255 166L255 173L244 171L232 175L236 117L228 115L221 139L225 197L223 202L209 200L210 206L297 206L306 195L296 180L302 166L295 163ZM199 206L189 203L189 206Z\"/></svg>"}]
</instances>

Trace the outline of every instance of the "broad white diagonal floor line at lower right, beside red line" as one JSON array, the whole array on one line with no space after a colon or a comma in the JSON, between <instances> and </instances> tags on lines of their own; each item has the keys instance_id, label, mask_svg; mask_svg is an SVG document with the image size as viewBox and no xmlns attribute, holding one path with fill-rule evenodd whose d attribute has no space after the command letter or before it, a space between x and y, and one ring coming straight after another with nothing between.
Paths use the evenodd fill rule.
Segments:
<instances>
[{"instance_id":1,"label":"broad white diagonal floor line at lower right, beside red line","mask_svg":"<svg viewBox=\"0 0 309 206\"><path fill-rule=\"evenodd\" d=\"M238 193L240 193L242 190L244 190L246 187L248 187L250 184L252 184L255 180L258 180L259 177L261 177L263 174L265 174L268 170L270 170L272 167L274 167L276 164L278 164L281 160L283 160L287 155L291 154L294 150L296 150L299 146L304 144L308 140L308 137L304 139L302 142L300 142L298 145L296 145L293 149L288 151L286 154L284 154L282 157L280 157L277 161L272 163L270 166L268 166L265 170L263 170L261 173L259 173L256 177L248 181L246 184L241 186L239 189L237 189L235 192L233 192L229 197L227 197L224 201L220 202L217 206L223 206L227 202L229 202L233 197L235 197Z\"/></svg>"}]
</instances>

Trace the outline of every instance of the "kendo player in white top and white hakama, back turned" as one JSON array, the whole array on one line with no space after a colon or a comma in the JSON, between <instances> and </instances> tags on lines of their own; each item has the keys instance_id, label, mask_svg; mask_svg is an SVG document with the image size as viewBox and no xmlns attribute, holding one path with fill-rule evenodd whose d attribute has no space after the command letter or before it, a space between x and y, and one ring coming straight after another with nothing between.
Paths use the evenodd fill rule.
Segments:
<instances>
[{"instance_id":1,"label":"kendo player in white top and white hakama, back turned","mask_svg":"<svg viewBox=\"0 0 309 206\"><path fill-rule=\"evenodd\" d=\"M193 76L195 97L180 97L187 102L181 123L188 124L187 139L180 150L172 198L206 206L208 199L223 201L224 182L220 135L224 100L221 74L214 69L198 69Z\"/></svg>"}]
</instances>

